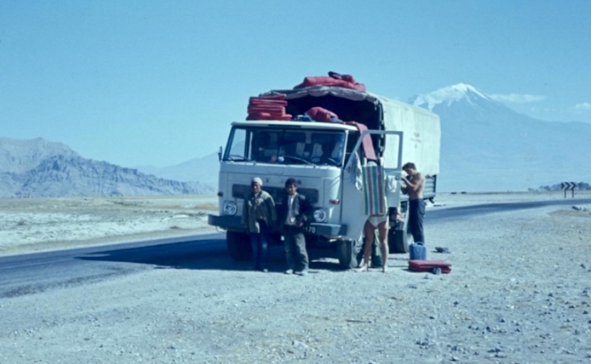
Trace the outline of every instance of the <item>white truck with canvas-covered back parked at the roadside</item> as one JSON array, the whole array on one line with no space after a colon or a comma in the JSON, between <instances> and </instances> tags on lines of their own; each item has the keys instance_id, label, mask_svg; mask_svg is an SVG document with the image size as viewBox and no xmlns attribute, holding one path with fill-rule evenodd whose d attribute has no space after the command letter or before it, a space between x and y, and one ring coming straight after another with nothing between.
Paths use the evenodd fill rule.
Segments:
<instances>
[{"instance_id":1,"label":"white truck with canvas-covered back parked at the roadside","mask_svg":"<svg viewBox=\"0 0 591 364\"><path fill-rule=\"evenodd\" d=\"M400 212L405 222L390 220L390 253L408 252L412 235L407 231L408 196L401 192L403 163L413 162L426 176L424 198L433 201L439 173L440 121L434 113L369 92L334 86L276 90L261 96L285 95L287 113L302 115L312 107L333 111L343 121L356 121L368 130L348 123L309 121L237 121L228 143L220 149L219 215L208 223L226 230L228 252L236 261L251 257L248 234L241 226L244 197L258 176L263 189L276 203L285 193L287 178L296 178L298 192L313 205L305 226L308 246L334 246L343 268L358 266L363 251L363 208L360 170L367 156L370 136L377 163L390 181L389 216ZM364 139L365 138L365 139ZM364 141L365 142L362 142ZM327 158L328 154L328 158ZM394 183L392 183L394 181ZM271 241L281 244L275 231Z\"/></svg>"}]
</instances>

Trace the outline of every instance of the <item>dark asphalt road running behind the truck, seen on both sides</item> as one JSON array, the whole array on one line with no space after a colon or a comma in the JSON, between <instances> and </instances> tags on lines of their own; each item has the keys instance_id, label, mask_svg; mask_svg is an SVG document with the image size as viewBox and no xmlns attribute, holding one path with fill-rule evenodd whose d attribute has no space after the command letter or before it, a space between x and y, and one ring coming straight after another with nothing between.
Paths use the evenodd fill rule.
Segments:
<instances>
[{"instance_id":1,"label":"dark asphalt road running behind the truck, seen on both sides","mask_svg":"<svg viewBox=\"0 0 591 364\"><path fill-rule=\"evenodd\" d=\"M565 199L434 208L425 216L425 224L486 213L589 203L591 199ZM0 298L113 279L120 275L153 269L155 266L192 268L198 263L201 268L208 268L208 264L211 268L221 268L216 266L219 265L219 259L216 257L225 256L225 235L208 233L183 238L0 257ZM226 264L223 269L228 267L231 266Z\"/></svg>"}]
</instances>

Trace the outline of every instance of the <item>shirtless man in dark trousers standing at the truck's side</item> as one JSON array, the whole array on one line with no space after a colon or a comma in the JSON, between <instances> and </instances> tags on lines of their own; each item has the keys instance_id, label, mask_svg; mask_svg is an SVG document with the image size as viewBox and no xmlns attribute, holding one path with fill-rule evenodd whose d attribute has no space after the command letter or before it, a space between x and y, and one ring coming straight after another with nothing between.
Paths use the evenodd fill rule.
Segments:
<instances>
[{"instance_id":1,"label":"shirtless man in dark trousers standing at the truck's side","mask_svg":"<svg viewBox=\"0 0 591 364\"><path fill-rule=\"evenodd\" d=\"M425 189L425 178L418 173L415 163L406 163L403 170L408 176L403 176L402 180L406 186L402 188L403 193L410 197L408 206L408 229L415 242L425 243L425 233L423 233L423 217L425 216L425 200L423 200L423 190Z\"/></svg>"}]
</instances>

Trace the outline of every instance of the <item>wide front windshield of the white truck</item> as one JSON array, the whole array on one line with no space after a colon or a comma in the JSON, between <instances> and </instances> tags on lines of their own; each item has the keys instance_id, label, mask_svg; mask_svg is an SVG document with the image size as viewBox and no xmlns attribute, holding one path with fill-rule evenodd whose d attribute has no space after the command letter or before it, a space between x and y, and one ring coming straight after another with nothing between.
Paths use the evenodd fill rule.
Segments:
<instances>
[{"instance_id":1,"label":"wide front windshield of the white truck","mask_svg":"<svg viewBox=\"0 0 591 364\"><path fill-rule=\"evenodd\" d=\"M345 131L234 127L224 161L342 166Z\"/></svg>"}]
</instances>

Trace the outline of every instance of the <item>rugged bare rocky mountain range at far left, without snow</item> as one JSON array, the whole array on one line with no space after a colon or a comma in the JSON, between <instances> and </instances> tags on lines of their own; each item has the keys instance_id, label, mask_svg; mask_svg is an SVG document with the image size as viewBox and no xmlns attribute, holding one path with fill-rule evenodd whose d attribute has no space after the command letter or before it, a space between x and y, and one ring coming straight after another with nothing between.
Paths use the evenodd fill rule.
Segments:
<instances>
[{"instance_id":1,"label":"rugged bare rocky mountain range at far left, without snow","mask_svg":"<svg viewBox=\"0 0 591 364\"><path fill-rule=\"evenodd\" d=\"M158 178L104 161L82 158L42 138L0 138L0 198L153 196L212 193L198 182Z\"/></svg>"}]
</instances>

